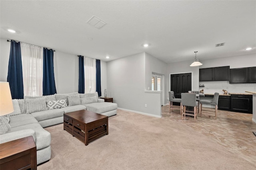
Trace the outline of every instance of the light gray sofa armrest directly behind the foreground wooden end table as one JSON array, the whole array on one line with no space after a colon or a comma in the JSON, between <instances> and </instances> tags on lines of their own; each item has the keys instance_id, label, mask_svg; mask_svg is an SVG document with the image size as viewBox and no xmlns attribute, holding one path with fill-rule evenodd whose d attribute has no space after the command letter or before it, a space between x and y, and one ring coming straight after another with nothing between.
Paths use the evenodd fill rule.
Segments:
<instances>
[{"instance_id":1,"label":"light gray sofa armrest directly behind the foreground wooden end table","mask_svg":"<svg viewBox=\"0 0 256 170\"><path fill-rule=\"evenodd\" d=\"M27 136L32 136L36 142L36 132L33 129L26 129L0 135L0 144Z\"/></svg>"}]
</instances>

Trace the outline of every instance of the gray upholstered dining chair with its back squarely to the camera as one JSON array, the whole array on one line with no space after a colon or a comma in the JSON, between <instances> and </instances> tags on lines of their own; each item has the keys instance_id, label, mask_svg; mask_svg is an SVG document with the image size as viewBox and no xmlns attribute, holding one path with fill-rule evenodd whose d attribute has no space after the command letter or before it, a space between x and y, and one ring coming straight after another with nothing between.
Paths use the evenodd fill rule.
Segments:
<instances>
[{"instance_id":1,"label":"gray upholstered dining chair with its back squarely to the camera","mask_svg":"<svg viewBox=\"0 0 256 170\"><path fill-rule=\"evenodd\" d=\"M190 115L190 116L194 116L194 121L196 122L196 116L197 116L196 94L182 93L181 94L181 105L182 105L181 106L182 107L182 120L183 120L183 116ZM186 110L186 106L194 107L194 111Z\"/></svg>"}]
</instances>

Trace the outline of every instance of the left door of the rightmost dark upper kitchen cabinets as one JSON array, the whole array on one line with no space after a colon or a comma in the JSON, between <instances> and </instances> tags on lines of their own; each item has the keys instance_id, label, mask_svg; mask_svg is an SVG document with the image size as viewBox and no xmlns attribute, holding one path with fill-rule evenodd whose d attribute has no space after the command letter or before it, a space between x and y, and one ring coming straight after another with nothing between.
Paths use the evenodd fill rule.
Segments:
<instances>
[{"instance_id":1,"label":"left door of the rightmost dark upper kitchen cabinets","mask_svg":"<svg viewBox=\"0 0 256 170\"><path fill-rule=\"evenodd\" d=\"M233 68L230 69L230 83L247 83L248 68Z\"/></svg>"}]
</instances>

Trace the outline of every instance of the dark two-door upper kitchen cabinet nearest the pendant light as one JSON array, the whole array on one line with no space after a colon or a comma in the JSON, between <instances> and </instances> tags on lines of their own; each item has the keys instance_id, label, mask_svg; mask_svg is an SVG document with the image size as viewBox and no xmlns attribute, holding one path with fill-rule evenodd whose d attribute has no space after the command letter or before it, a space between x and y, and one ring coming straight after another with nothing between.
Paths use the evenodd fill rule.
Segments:
<instances>
[{"instance_id":1,"label":"dark two-door upper kitchen cabinet nearest the pendant light","mask_svg":"<svg viewBox=\"0 0 256 170\"><path fill-rule=\"evenodd\" d=\"M230 77L229 66L200 68L199 81L228 81Z\"/></svg>"}]
</instances>

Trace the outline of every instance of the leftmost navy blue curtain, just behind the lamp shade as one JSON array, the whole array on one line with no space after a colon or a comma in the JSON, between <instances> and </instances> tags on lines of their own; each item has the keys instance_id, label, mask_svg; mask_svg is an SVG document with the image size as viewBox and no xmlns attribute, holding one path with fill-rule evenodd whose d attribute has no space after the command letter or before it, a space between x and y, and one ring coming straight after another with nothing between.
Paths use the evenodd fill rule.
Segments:
<instances>
[{"instance_id":1,"label":"leftmost navy blue curtain, just behind the lamp shade","mask_svg":"<svg viewBox=\"0 0 256 170\"><path fill-rule=\"evenodd\" d=\"M14 40L11 40L7 82L10 85L12 99L24 98L20 42Z\"/></svg>"}]
</instances>

